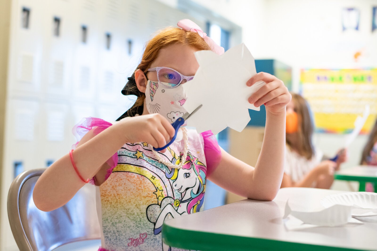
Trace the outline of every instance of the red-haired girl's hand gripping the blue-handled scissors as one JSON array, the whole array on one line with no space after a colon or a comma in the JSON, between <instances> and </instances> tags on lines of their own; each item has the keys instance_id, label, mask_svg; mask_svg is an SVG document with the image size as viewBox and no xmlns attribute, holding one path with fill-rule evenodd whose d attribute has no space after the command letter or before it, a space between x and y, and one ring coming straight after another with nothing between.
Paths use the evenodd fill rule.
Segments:
<instances>
[{"instance_id":1,"label":"red-haired girl's hand gripping the blue-handled scissors","mask_svg":"<svg viewBox=\"0 0 377 251\"><path fill-rule=\"evenodd\" d=\"M165 146L175 134L173 126L158 113L127 117L115 125L125 135L125 143L147 142L155 148Z\"/></svg>"}]
</instances>

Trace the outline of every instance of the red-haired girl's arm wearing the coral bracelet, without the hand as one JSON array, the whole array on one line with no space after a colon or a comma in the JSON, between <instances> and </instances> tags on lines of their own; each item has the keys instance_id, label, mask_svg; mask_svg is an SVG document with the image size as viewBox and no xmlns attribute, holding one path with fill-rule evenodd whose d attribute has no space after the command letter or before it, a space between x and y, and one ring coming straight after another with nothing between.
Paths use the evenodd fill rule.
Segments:
<instances>
[{"instance_id":1,"label":"red-haired girl's arm wearing the coral bracelet, without the hand","mask_svg":"<svg viewBox=\"0 0 377 251\"><path fill-rule=\"evenodd\" d=\"M87 132L73 152L75 164L84 179L92 178L121 146L119 128L110 126L95 136L93 130ZM84 142L84 143L83 143ZM112 144L109 144L112 142ZM35 206L43 211L51 211L66 204L84 186L78 177L69 154L55 161L40 176L35 184L33 199Z\"/></svg>"}]
</instances>

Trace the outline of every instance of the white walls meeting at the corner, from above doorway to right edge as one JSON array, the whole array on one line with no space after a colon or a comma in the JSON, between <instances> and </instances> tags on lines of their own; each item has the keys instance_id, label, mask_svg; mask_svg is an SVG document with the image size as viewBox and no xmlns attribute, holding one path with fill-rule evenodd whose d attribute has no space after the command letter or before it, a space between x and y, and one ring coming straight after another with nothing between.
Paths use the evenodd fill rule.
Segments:
<instances>
[{"instance_id":1,"label":"white walls meeting at the corner, from above doorway to right edge","mask_svg":"<svg viewBox=\"0 0 377 251\"><path fill-rule=\"evenodd\" d=\"M377 31L371 33L377 0L193 0L242 27L242 41L256 59L293 67L299 90L301 68L377 66ZM342 8L360 9L360 30L342 31ZM358 62L354 53L362 52Z\"/></svg>"}]
</instances>

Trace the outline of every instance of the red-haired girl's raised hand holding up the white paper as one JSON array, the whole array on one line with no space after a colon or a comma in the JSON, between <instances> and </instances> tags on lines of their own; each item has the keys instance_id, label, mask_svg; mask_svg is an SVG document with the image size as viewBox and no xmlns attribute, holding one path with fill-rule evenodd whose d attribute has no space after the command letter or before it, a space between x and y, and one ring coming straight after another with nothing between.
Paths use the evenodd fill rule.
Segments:
<instances>
[{"instance_id":1,"label":"red-haired girl's raised hand holding up the white paper","mask_svg":"<svg viewBox=\"0 0 377 251\"><path fill-rule=\"evenodd\" d=\"M250 78L246 85L251 86L258 81L264 81L266 85L249 97L249 103L256 107L264 104L266 110L273 114L285 112L285 106L291 101L292 96L283 81L271 74L259 72Z\"/></svg>"}]
</instances>

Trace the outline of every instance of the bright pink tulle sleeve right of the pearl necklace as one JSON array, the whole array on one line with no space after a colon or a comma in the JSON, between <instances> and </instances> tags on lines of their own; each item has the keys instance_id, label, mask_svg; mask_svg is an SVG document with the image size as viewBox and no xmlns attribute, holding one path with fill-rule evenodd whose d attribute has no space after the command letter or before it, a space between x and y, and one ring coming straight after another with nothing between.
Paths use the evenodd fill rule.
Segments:
<instances>
[{"instance_id":1,"label":"bright pink tulle sleeve right of the pearl necklace","mask_svg":"<svg viewBox=\"0 0 377 251\"><path fill-rule=\"evenodd\" d=\"M204 141L204 155L207 161L207 177L216 169L221 161L221 150L212 131L201 133Z\"/></svg>"}]
</instances>

